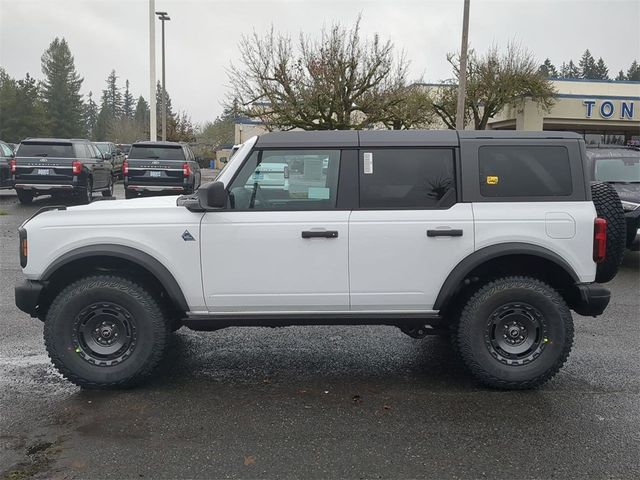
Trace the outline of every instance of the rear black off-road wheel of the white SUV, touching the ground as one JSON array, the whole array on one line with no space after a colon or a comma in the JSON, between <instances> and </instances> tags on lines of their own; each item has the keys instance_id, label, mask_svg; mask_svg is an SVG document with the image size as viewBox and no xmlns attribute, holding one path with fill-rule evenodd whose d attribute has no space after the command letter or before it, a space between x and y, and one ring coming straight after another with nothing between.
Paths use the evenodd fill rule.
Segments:
<instances>
[{"instance_id":1,"label":"rear black off-road wheel of the white SUV, touching the ground","mask_svg":"<svg viewBox=\"0 0 640 480\"><path fill-rule=\"evenodd\" d=\"M496 320L512 328L511 319L524 319L525 315L533 323L539 322L537 330L528 330L538 343L521 356L495 348L496 342L507 341L500 338L502 332L509 332L502 330L503 325L496 326ZM527 330L520 348L529 342L526 335ZM573 319L565 301L546 283L529 277L505 277L487 283L471 296L453 341L464 365L483 385L505 390L536 388L551 379L569 357Z\"/></svg>"}]
</instances>

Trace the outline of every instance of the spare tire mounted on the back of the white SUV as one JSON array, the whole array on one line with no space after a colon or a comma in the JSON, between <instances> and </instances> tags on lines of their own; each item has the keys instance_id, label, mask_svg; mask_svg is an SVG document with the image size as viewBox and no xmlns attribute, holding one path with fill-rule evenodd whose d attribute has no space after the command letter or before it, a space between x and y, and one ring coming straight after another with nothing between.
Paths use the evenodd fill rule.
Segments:
<instances>
[{"instance_id":1,"label":"spare tire mounted on the back of the white SUV","mask_svg":"<svg viewBox=\"0 0 640 480\"><path fill-rule=\"evenodd\" d=\"M626 246L627 226L618 192L608 183L592 182L591 198L599 218L607 221L607 256L596 270L596 282L613 280L622 263Z\"/></svg>"}]
</instances>

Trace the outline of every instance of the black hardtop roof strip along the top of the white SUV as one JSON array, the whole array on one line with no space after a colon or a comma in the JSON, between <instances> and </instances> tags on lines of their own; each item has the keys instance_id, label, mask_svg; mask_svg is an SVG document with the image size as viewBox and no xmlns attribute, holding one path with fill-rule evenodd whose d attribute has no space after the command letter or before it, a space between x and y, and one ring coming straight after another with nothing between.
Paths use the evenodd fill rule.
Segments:
<instances>
[{"instance_id":1,"label":"black hardtop roof strip along the top of the white SUV","mask_svg":"<svg viewBox=\"0 0 640 480\"><path fill-rule=\"evenodd\" d=\"M574 132L529 132L522 130L316 130L270 132L258 136L260 148L335 147L457 147L460 139L569 139Z\"/></svg>"}]
</instances>

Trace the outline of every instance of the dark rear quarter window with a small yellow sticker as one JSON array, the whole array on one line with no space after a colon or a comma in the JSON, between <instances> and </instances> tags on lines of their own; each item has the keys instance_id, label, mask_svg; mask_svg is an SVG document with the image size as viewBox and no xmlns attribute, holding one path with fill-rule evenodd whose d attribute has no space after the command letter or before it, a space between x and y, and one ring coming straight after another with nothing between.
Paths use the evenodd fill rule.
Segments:
<instances>
[{"instance_id":1,"label":"dark rear quarter window with a small yellow sticker","mask_svg":"<svg viewBox=\"0 0 640 480\"><path fill-rule=\"evenodd\" d=\"M569 196L573 190L563 146L482 146L478 164L483 197Z\"/></svg>"}]
</instances>

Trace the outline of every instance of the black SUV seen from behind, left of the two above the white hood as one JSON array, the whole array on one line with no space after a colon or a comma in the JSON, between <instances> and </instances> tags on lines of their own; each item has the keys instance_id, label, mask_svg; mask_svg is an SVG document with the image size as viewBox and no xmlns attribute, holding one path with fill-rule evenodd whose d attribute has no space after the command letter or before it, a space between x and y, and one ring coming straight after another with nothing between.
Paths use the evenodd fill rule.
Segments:
<instances>
[{"instance_id":1,"label":"black SUV seen from behind, left of the two above the white hood","mask_svg":"<svg viewBox=\"0 0 640 480\"><path fill-rule=\"evenodd\" d=\"M38 195L71 194L89 203L93 192L113 195L113 167L88 140L30 138L18 146L11 164L20 203Z\"/></svg>"}]
</instances>

